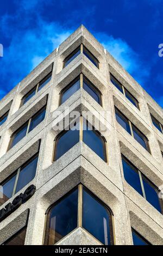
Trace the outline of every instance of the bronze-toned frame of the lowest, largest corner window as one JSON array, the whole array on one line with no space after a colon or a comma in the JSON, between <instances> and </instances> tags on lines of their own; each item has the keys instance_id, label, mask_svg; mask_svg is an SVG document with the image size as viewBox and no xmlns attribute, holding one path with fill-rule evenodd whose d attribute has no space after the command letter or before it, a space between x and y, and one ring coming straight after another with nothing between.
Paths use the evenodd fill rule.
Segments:
<instances>
[{"instance_id":1,"label":"bronze-toned frame of the lowest, largest corner window","mask_svg":"<svg viewBox=\"0 0 163 256\"><path fill-rule=\"evenodd\" d=\"M44 231L44 239L43 239L43 245L48 245L48 235L49 235L49 220L50 220L50 213L51 210L62 200L64 200L66 197L68 197L71 193L73 193L75 190L78 190L78 216L77 216L77 227L73 229L70 233L68 233L66 236L62 237L58 242L62 241L70 235L74 230L78 228L84 229L87 233L89 233L95 240L98 242L102 243L99 241L95 236L93 236L89 231L87 231L85 228L82 227L82 219L83 219L83 190L85 190L87 193L89 193L95 200L100 203L107 211L108 211L108 216L109 216L109 225L110 225L110 241L111 245L116 244L115 240L115 230L114 230L114 214L112 210L109 208L108 205L106 205L101 199L99 199L96 194L93 194L87 187L85 187L82 183L78 184L72 190L68 191L64 196L59 198L55 203L49 205L47 208L45 215L46 215L46 220L45 220L45 231ZM54 245L57 245L58 242L54 243Z\"/></svg>"}]
</instances>

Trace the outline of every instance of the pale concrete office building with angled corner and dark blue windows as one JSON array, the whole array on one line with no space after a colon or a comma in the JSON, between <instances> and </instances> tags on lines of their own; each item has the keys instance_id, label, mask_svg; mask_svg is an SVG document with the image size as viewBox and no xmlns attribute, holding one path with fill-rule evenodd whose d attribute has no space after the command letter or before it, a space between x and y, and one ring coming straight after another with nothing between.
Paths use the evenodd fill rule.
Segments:
<instances>
[{"instance_id":1,"label":"pale concrete office building with angled corner and dark blue windows","mask_svg":"<svg viewBox=\"0 0 163 256\"><path fill-rule=\"evenodd\" d=\"M0 109L1 244L163 244L162 108L84 26Z\"/></svg>"}]
</instances>

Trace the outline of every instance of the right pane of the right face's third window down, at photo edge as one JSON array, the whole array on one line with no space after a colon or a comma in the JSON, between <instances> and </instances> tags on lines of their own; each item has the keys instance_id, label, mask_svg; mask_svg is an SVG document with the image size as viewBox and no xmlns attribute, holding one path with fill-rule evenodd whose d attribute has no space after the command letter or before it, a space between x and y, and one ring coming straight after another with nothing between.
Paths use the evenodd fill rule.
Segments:
<instances>
[{"instance_id":1,"label":"right pane of the right face's third window down, at photo edge","mask_svg":"<svg viewBox=\"0 0 163 256\"><path fill-rule=\"evenodd\" d=\"M150 184L149 181L147 181L143 175L142 175L142 179L143 179L143 185L145 188L145 194L146 194L147 201L150 204L152 204L155 209L157 209L159 212L161 212L158 193L155 191L152 184Z\"/></svg>"}]
</instances>

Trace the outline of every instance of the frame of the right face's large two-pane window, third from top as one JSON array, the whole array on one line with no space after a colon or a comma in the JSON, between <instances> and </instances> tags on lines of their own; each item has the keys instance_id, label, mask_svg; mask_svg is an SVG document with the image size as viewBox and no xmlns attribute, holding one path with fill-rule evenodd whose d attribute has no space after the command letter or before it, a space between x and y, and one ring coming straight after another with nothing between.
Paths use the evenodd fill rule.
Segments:
<instances>
[{"instance_id":1,"label":"frame of the right face's large two-pane window, third from top","mask_svg":"<svg viewBox=\"0 0 163 256\"><path fill-rule=\"evenodd\" d=\"M132 187L137 193L140 194L140 196L142 196L142 197L145 198L145 199L146 199L146 191L145 191L145 188L144 188L144 185L143 185L143 179L146 180L146 182L149 184L149 186L151 186L151 187L153 188L153 190L155 190L155 192L156 192L157 195L158 195L158 201L159 201L160 209L161 209L161 212L160 212L160 211L159 211L159 212L163 215L163 200L162 200L161 198L159 198L159 192L160 192L159 188L158 188L151 180L149 180L149 179L147 178L147 176L146 176L145 174L143 174L133 163L131 163L131 162L127 159L126 156L124 156L123 154L121 154L121 159L124 159L124 161L126 161L127 164L129 164L129 165L131 166L131 168L133 169L133 171L136 172L136 173L139 175L139 180L140 180L142 195L141 195L139 192L137 192L137 191L135 190L135 188L132 187L132 186L128 183L128 181L127 181L125 178L124 178L124 180L127 182L127 184L130 185L130 187ZM123 164L122 164L122 169L123 169ZM123 170L123 176L124 176L124 170ZM146 199L146 201L148 202L147 199ZM149 202L148 202L148 203L149 203ZM151 203L149 203L149 204L151 204ZM152 204L151 204L151 205L152 205ZM153 206L153 205L152 205L152 206ZM153 208L155 208L155 207L153 206ZM157 209L155 208L155 210L157 210ZM158 210L157 210L157 211L158 211Z\"/></svg>"}]
</instances>

